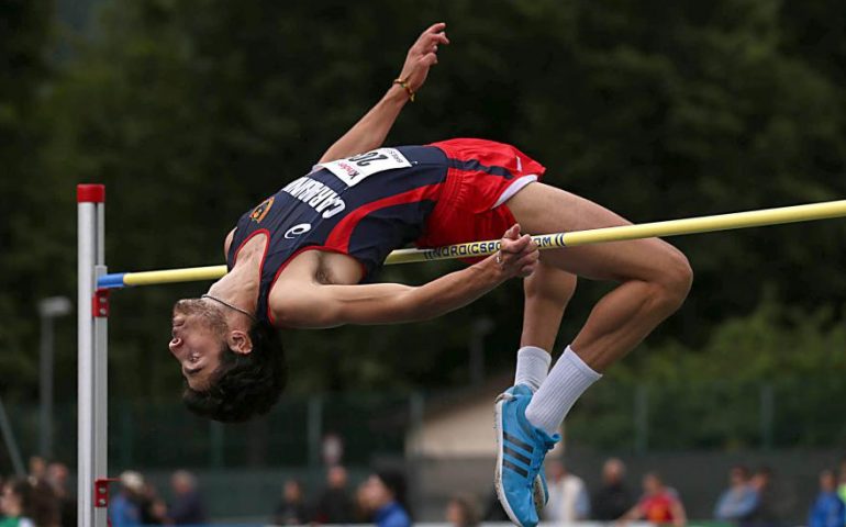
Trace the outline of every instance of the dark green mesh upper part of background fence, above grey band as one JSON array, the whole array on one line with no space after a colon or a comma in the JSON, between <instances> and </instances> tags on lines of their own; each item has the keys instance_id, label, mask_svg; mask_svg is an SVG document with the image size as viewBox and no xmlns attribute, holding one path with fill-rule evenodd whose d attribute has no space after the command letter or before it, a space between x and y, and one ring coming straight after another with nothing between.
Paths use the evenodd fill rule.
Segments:
<instances>
[{"instance_id":1,"label":"dark green mesh upper part of background fence, above grey band","mask_svg":"<svg viewBox=\"0 0 846 527\"><path fill-rule=\"evenodd\" d=\"M221 425L192 416L178 401L112 401L109 459L125 467L203 469L315 467L326 434L345 444L345 460L402 457L405 434L425 422L423 394L323 394L286 396L265 419ZM839 375L770 383L628 384L593 386L567 421L568 445L599 451L826 448L846 444ZM7 402L24 455L36 453L38 413ZM55 410L57 459L76 460L76 412ZM0 473L11 472L0 449Z\"/></svg>"}]
</instances>

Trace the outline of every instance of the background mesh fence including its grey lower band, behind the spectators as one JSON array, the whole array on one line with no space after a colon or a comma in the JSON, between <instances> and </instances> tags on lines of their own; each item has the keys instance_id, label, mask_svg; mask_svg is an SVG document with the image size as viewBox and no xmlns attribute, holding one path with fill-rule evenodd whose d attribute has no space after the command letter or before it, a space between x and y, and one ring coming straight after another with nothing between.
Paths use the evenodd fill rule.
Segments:
<instances>
[{"instance_id":1,"label":"background mesh fence including its grey lower band, behind the spectators","mask_svg":"<svg viewBox=\"0 0 846 527\"><path fill-rule=\"evenodd\" d=\"M801 520L816 492L816 474L846 455L846 385L830 379L772 383L628 384L609 379L591 389L568 419L566 459L589 486L605 457L630 466L630 485L659 470L693 517L709 517L734 463L770 466L783 483L786 518ZM344 462L354 482L376 462L399 464L411 478L419 519L443 518L457 492L491 497L492 459L405 458L409 429L423 426L437 397L421 394L324 394L283 397L266 418L220 425L193 417L180 403L110 404L110 473L137 469L163 491L176 468L200 475L216 518L269 515L281 482L302 480L313 495L324 470L321 440L344 438ZM443 407L443 405L441 405ZM37 449L34 405L7 403L24 456ZM74 406L56 406L57 458L76 455ZM839 450L838 450L839 449ZM11 462L0 452L0 473Z\"/></svg>"}]
</instances>

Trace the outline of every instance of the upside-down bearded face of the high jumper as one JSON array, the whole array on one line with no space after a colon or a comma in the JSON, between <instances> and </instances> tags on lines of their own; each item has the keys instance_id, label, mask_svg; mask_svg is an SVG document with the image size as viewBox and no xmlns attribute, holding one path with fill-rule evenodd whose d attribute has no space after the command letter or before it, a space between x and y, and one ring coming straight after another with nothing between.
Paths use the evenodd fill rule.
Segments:
<instances>
[{"instance_id":1,"label":"upside-down bearded face of the high jumper","mask_svg":"<svg viewBox=\"0 0 846 527\"><path fill-rule=\"evenodd\" d=\"M226 347L223 314L201 299L180 300L174 305L170 352L192 390L207 390Z\"/></svg>"}]
</instances>

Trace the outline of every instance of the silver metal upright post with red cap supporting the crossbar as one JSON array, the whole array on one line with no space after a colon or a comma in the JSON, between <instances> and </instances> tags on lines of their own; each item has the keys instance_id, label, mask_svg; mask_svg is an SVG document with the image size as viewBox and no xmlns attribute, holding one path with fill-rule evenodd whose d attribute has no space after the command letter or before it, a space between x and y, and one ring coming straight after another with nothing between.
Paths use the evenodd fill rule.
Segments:
<instances>
[{"instance_id":1,"label":"silver metal upright post with red cap supporting the crossbar","mask_svg":"<svg viewBox=\"0 0 846 527\"><path fill-rule=\"evenodd\" d=\"M97 274L103 272L102 184L77 186L78 218L78 370L77 370L77 523L105 527L105 508L94 502L94 481L105 476L105 324L100 321L104 295L97 292ZM96 318L97 317L97 318ZM98 401L99 400L99 401ZM100 506L98 506L100 505Z\"/></svg>"}]
</instances>

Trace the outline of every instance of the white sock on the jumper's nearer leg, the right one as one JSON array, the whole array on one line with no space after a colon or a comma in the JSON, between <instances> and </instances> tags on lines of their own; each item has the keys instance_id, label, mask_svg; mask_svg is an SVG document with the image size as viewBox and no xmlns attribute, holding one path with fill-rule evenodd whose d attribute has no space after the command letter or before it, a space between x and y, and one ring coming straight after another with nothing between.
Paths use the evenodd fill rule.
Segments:
<instances>
[{"instance_id":1,"label":"white sock on the jumper's nearer leg, the right one","mask_svg":"<svg viewBox=\"0 0 846 527\"><path fill-rule=\"evenodd\" d=\"M555 434L585 390L601 378L567 346L526 406L526 419L549 435Z\"/></svg>"}]
</instances>

